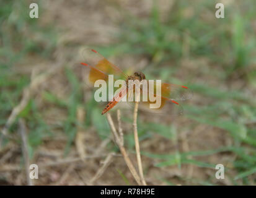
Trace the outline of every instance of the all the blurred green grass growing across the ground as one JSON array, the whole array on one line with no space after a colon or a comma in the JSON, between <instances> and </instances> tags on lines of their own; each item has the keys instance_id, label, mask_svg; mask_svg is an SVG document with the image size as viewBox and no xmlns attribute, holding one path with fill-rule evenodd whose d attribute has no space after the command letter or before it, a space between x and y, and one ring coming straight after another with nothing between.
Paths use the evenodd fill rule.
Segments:
<instances>
[{"instance_id":1,"label":"all the blurred green grass growing across the ground","mask_svg":"<svg viewBox=\"0 0 256 198\"><path fill-rule=\"evenodd\" d=\"M180 71L183 59L191 61L205 58L208 64L198 67L207 75L214 75L219 86L213 87L208 83L208 76L199 72L190 72L186 76L186 82L196 97L200 97L202 104L183 105L185 116L195 124L204 124L219 130L223 130L232 138L230 147L219 149L197 150L191 152L179 152L175 150L167 155L159 153L146 153L149 158L158 162L157 167L178 166L191 164L202 168L214 168L215 165L207 161L197 160L196 157L211 156L216 153L233 153L236 159L232 161L232 167L227 168L227 177L232 178L233 184L255 184L251 183L248 176L255 174L256 163L256 130L255 125L247 124L248 121L256 120L255 100L250 93L256 88L255 71L255 30L252 28L252 20L256 14L255 1L239 2L242 8L237 9L233 5L226 6L225 19L213 17L202 17L214 11L214 2L203 1L201 4L192 4L188 1L175 1L172 10L169 11L167 19L161 20L161 13L157 7L157 1L152 7L149 17L136 17L128 11L123 11L126 22L120 25L120 33L115 35L118 42L108 46L96 46L104 56L143 56L150 63L146 67L146 75L150 79L156 77L172 82L183 84L184 82L175 77ZM15 72L19 62L33 56L42 59L51 59L51 54L56 48L58 32L53 25L42 27L37 21L30 19L27 12L28 6L21 1L0 2L0 126L3 127L14 106L19 104L22 90L29 85L28 75L20 76ZM191 17L185 17L188 8L193 9ZM119 8L121 9L121 8ZM43 11L42 11L43 12ZM255 23L255 20L254 20ZM24 33L33 32L38 35L37 39L29 37ZM188 51L184 46L189 46ZM172 67L169 65L172 64ZM156 69L157 68L157 69ZM201 74L201 75L199 75ZM105 139L110 134L105 116L100 114L101 109L92 97L84 104L82 100L81 82L71 69L65 69L65 78L71 93L66 100L61 100L55 93L45 91L43 100L51 105L58 106L67 111L67 118L61 123L64 135L68 142L64 149L67 154L73 144L76 135L77 106L84 106L86 110L86 122L82 127L94 126L99 137ZM190 80L199 76L205 80L204 84L190 83ZM172 79L169 81L169 79ZM232 84L239 82L242 86L231 88ZM31 99L25 109L19 114L29 124L29 146L30 156L42 143L45 136L53 136L52 127L48 126L42 119L35 99ZM18 119L18 118L17 118ZM131 118L122 118L125 123L132 123ZM139 139L151 139L155 133L162 136L173 144L177 141L177 126L165 123L138 123ZM192 126L183 126L188 129ZM17 120L11 126L11 132L17 129ZM179 129L182 130L182 129ZM125 136L126 145L130 150L134 148L133 134ZM188 140L189 141L189 140ZM114 148L117 149L117 148ZM191 158L193 157L193 159ZM235 170L236 175L229 172ZM118 170L117 170L118 171ZM123 180L128 183L125 175L118 171ZM181 178L182 179L182 178ZM159 178L172 184L164 178ZM193 179L192 179L193 180ZM195 184L214 184L214 178L205 181L193 181Z\"/></svg>"}]
</instances>

